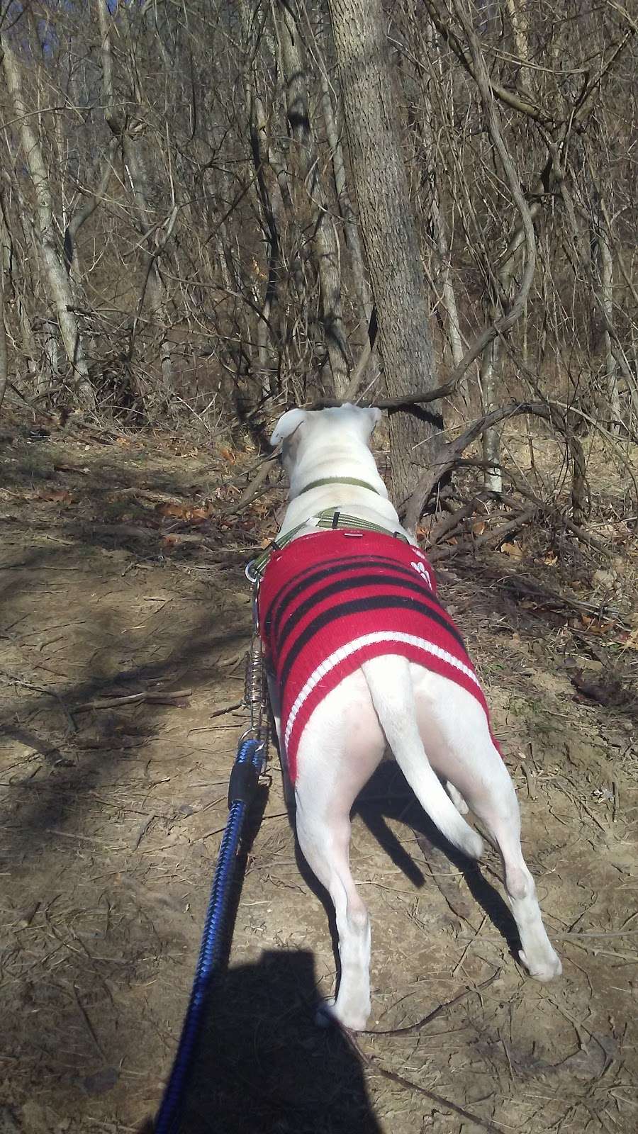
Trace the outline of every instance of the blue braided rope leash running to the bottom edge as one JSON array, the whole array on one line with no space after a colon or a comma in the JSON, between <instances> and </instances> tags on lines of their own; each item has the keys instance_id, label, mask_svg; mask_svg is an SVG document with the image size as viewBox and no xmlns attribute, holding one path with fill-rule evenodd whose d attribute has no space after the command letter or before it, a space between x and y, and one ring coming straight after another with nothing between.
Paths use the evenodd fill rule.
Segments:
<instances>
[{"instance_id":1,"label":"blue braided rope leash running to the bottom edge","mask_svg":"<svg viewBox=\"0 0 638 1134\"><path fill-rule=\"evenodd\" d=\"M228 785L229 814L219 847L217 869L212 880L210 900L205 915L202 943L195 968L191 999L182 1029L179 1044L170 1078L156 1119L156 1134L176 1134L182 1120L182 1107L195 1043L208 1006L208 993L212 976L219 968L224 945L224 922L230 895L230 882L242 828L249 805L254 796L259 777L266 761L266 744L260 739L247 739L240 744L230 782Z\"/></svg>"}]
</instances>

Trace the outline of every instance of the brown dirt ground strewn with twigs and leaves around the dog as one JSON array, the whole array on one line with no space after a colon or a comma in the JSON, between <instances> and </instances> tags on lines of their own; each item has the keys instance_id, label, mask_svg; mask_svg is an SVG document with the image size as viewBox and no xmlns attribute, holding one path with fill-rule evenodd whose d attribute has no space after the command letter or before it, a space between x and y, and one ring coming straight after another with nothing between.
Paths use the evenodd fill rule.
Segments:
<instances>
[{"instance_id":1,"label":"brown dirt ground strewn with twigs and leaves around the dog","mask_svg":"<svg viewBox=\"0 0 638 1134\"><path fill-rule=\"evenodd\" d=\"M246 725L243 568L275 521L263 499L227 514L254 454L30 435L15 411L2 429L0 1134L140 1131L179 1035ZM354 1047L318 1030L335 957L272 751L183 1134L636 1129L636 558L608 515L610 559L523 533L438 572L563 976L526 978L496 855L450 855L384 764L352 847L372 1032ZM578 606L607 600L602 617Z\"/></svg>"}]
</instances>

